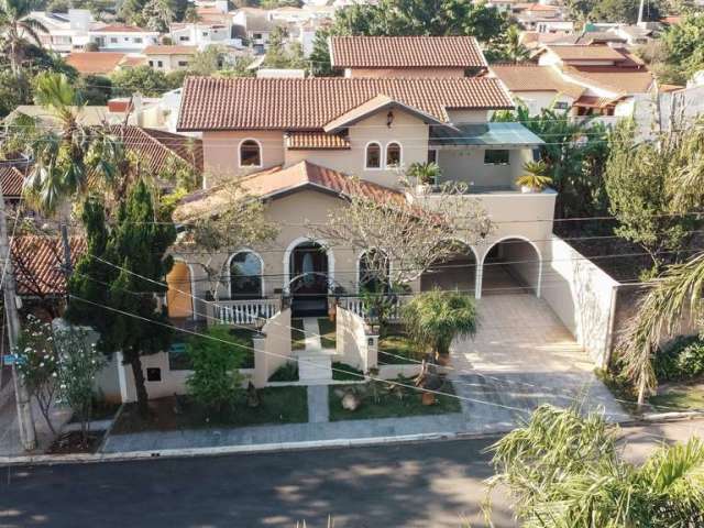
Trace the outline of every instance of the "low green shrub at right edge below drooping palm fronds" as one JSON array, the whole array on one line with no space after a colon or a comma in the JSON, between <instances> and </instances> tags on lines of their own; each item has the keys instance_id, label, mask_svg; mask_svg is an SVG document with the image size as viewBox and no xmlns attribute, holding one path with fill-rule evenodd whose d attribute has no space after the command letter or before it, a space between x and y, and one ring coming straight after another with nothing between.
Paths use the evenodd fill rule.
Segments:
<instances>
[{"instance_id":1,"label":"low green shrub at right edge below drooping palm fronds","mask_svg":"<svg viewBox=\"0 0 704 528\"><path fill-rule=\"evenodd\" d=\"M704 340L681 336L656 355L656 375L661 382L685 381L704 374Z\"/></svg>"}]
</instances>

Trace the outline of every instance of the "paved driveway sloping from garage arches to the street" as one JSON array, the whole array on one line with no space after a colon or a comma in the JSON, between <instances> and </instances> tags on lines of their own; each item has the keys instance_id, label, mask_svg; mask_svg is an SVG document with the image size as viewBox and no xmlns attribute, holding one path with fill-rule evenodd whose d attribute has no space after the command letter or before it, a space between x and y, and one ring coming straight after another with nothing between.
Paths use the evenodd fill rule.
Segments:
<instances>
[{"instance_id":1,"label":"paved driveway sloping from garage arches to the street","mask_svg":"<svg viewBox=\"0 0 704 528\"><path fill-rule=\"evenodd\" d=\"M550 307L530 294L495 295L479 304L476 336L452 348L455 391L473 422L508 427L543 403L629 416L594 375L586 352Z\"/></svg>"}]
</instances>

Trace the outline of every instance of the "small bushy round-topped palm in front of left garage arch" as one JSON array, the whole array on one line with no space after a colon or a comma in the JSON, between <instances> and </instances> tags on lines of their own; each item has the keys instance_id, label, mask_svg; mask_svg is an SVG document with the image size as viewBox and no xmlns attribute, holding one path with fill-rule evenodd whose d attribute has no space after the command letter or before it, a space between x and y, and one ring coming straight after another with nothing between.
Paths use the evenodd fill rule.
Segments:
<instances>
[{"instance_id":1,"label":"small bushy round-topped palm in front of left garage arch","mask_svg":"<svg viewBox=\"0 0 704 528\"><path fill-rule=\"evenodd\" d=\"M404 306L403 320L414 341L446 359L452 340L474 336L479 326L472 297L440 289L415 296Z\"/></svg>"}]
</instances>

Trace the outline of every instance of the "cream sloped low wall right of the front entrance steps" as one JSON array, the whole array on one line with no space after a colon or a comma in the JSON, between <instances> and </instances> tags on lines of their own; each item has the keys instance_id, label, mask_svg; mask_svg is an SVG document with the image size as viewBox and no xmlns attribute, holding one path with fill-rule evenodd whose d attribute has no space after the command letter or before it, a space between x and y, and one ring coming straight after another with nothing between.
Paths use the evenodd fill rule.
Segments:
<instances>
[{"instance_id":1,"label":"cream sloped low wall right of the front entrance steps","mask_svg":"<svg viewBox=\"0 0 704 528\"><path fill-rule=\"evenodd\" d=\"M336 330L337 360L366 373L377 365L378 336L367 333L364 319L338 306Z\"/></svg>"}]
</instances>

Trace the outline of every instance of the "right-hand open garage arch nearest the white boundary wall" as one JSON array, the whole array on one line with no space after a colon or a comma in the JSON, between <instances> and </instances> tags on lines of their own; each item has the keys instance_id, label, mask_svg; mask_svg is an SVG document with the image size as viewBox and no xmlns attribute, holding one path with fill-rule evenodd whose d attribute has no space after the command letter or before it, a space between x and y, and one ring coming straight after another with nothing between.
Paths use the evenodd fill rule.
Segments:
<instances>
[{"instance_id":1,"label":"right-hand open garage arch nearest the white boundary wall","mask_svg":"<svg viewBox=\"0 0 704 528\"><path fill-rule=\"evenodd\" d=\"M532 294L540 297L542 255L524 237L506 237L488 249L480 267L480 296Z\"/></svg>"}]
</instances>

